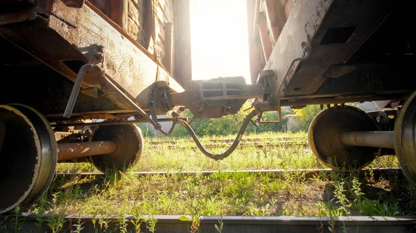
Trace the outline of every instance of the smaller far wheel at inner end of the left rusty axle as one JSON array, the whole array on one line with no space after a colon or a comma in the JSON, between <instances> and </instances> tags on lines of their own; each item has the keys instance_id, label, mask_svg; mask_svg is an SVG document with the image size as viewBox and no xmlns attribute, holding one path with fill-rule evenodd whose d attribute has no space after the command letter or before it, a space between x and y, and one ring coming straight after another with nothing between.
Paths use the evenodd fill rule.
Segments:
<instances>
[{"instance_id":1,"label":"smaller far wheel at inner end of the left rusty axle","mask_svg":"<svg viewBox=\"0 0 416 233\"><path fill-rule=\"evenodd\" d=\"M143 153L143 136L134 124L113 124L98 127L92 134L92 141L112 140L116 142L114 153L90 156L95 167L105 172L111 169L123 171L139 162Z\"/></svg>"}]
</instances>

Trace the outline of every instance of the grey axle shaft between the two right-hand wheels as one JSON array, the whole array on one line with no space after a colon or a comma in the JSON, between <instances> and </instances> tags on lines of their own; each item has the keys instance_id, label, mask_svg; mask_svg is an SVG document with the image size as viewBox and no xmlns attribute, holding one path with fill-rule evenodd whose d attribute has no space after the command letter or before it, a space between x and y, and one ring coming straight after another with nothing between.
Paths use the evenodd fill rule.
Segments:
<instances>
[{"instance_id":1,"label":"grey axle shaft between the two right-hand wheels","mask_svg":"<svg viewBox=\"0 0 416 233\"><path fill-rule=\"evenodd\" d=\"M340 140L347 146L395 149L394 131L345 131Z\"/></svg>"}]
</instances>

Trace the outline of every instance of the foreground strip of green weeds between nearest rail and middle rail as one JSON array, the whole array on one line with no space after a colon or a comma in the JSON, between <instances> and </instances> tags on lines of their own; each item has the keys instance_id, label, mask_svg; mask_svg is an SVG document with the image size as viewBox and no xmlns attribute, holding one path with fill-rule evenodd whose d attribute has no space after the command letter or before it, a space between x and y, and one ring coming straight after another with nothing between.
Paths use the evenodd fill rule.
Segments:
<instances>
[{"instance_id":1,"label":"foreground strip of green weeds between nearest rail and middle rail","mask_svg":"<svg viewBox=\"0 0 416 233\"><path fill-rule=\"evenodd\" d=\"M404 180L302 172L211 176L116 173L59 176L33 213L104 215L395 216L416 214L415 189ZM395 185L392 185L395 184Z\"/></svg>"}]
</instances>

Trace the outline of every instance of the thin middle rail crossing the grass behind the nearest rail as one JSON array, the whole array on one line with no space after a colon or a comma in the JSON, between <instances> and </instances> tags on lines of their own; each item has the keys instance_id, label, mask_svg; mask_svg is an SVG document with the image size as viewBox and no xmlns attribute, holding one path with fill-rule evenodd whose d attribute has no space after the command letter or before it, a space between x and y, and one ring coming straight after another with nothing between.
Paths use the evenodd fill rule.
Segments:
<instances>
[{"instance_id":1,"label":"thin middle rail crossing the grass behind the nearest rail","mask_svg":"<svg viewBox=\"0 0 416 233\"><path fill-rule=\"evenodd\" d=\"M130 174L135 174L137 176L152 176L152 175L174 175L181 174L184 176L210 176L212 174L218 173L250 173L250 174L275 174L277 176L284 176L285 174L299 173L302 174L305 178L312 178L313 176L318 175L329 175L333 169L261 169L261 170L225 170L225 171L131 171ZM396 176L403 176L400 167L379 167L379 168L370 168L370 169L360 169L358 171L359 176L368 176L372 174L374 177L380 176L389 176L395 174ZM104 177L105 174L101 172L59 172L57 176L98 176Z\"/></svg>"}]
</instances>

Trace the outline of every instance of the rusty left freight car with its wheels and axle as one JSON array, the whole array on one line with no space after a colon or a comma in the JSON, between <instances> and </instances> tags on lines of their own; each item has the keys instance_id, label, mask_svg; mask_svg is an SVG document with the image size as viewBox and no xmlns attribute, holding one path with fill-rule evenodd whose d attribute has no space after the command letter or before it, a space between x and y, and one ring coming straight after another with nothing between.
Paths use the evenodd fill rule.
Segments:
<instances>
[{"instance_id":1,"label":"rusty left freight car with its wheels and axle","mask_svg":"<svg viewBox=\"0 0 416 233\"><path fill-rule=\"evenodd\" d=\"M57 162L134 165L132 123L177 111L162 100L191 80L190 48L188 0L0 1L0 213L35 203Z\"/></svg>"}]
</instances>

